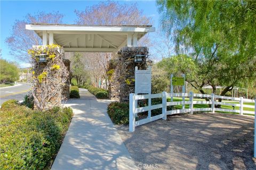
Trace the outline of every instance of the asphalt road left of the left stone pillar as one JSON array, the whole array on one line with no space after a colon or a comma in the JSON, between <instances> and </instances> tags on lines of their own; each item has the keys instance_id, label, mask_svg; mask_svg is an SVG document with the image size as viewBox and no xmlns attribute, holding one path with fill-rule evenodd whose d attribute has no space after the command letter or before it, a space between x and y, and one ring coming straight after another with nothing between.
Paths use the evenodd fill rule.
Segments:
<instances>
[{"instance_id":1,"label":"asphalt road left of the left stone pillar","mask_svg":"<svg viewBox=\"0 0 256 170\"><path fill-rule=\"evenodd\" d=\"M24 100L30 88L29 83L18 83L15 86L0 88L0 105L10 99Z\"/></svg>"}]
</instances>

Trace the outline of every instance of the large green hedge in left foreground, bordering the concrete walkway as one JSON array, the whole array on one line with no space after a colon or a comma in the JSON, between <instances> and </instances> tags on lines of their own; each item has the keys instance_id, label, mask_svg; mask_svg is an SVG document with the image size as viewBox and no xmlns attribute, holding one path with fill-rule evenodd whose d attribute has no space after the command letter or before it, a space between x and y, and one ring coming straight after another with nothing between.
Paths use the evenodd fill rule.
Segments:
<instances>
[{"instance_id":1,"label":"large green hedge in left foreground, bordering the concrete walkway","mask_svg":"<svg viewBox=\"0 0 256 170\"><path fill-rule=\"evenodd\" d=\"M0 169L50 169L73 116L71 108L33 111L9 100L0 109Z\"/></svg>"}]
</instances>

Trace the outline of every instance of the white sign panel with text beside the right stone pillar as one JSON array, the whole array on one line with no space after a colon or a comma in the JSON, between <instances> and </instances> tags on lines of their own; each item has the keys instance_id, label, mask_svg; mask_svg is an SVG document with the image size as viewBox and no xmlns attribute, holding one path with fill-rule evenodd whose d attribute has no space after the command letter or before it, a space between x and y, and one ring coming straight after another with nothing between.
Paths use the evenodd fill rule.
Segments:
<instances>
[{"instance_id":1,"label":"white sign panel with text beside the right stone pillar","mask_svg":"<svg viewBox=\"0 0 256 170\"><path fill-rule=\"evenodd\" d=\"M151 94L151 67L148 70L135 67L135 94Z\"/></svg>"}]
</instances>

